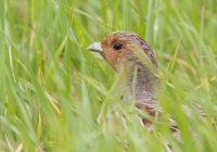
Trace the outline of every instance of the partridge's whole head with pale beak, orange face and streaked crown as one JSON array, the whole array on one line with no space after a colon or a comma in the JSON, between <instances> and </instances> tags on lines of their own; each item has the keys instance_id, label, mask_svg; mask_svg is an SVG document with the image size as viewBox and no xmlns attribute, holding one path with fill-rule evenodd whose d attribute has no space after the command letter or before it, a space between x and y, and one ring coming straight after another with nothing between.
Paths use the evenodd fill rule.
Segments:
<instances>
[{"instance_id":1,"label":"partridge's whole head with pale beak, orange face and streaked crown","mask_svg":"<svg viewBox=\"0 0 217 152\"><path fill-rule=\"evenodd\" d=\"M103 40L91 43L90 51L99 52L105 61L114 68L128 63L139 63L141 52L146 56L148 62L157 66L155 56L148 43L137 34L128 31L114 31Z\"/></svg>"}]
</instances>

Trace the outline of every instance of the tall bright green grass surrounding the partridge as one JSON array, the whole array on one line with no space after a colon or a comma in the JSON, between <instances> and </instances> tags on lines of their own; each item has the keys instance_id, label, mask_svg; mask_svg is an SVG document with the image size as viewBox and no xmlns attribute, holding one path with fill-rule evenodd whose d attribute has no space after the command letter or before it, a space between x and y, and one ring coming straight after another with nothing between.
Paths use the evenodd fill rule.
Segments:
<instances>
[{"instance_id":1,"label":"tall bright green grass surrounding the partridge","mask_svg":"<svg viewBox=\"0 0 217 152\"><path fill-rule=\"evenodd\" d=\"M155 152L165 151L166 141L175 151L216 151L216 0L1 0L0 151ZM133 105L120 103L122 77L86 49L112 30L138 33L155 51L165 115L152 134ZM168 117L177 122L181 142L169 131Z\"/></svg>"}]
</instances>

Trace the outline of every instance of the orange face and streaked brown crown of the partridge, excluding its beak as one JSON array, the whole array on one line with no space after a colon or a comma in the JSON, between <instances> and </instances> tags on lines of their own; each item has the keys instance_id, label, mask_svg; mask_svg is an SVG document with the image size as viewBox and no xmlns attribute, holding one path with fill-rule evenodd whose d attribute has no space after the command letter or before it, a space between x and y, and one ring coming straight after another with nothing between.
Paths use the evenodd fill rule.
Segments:
<instances>
[{"instance_id":1,"label":"orange face and streaked brown crown of the partridge, excluding its beak","mask_svg":"<svg viewBox=\"0 0 217 152\"><path fill-rule=\"evenodd\" d=\"M129 54L132 55L132 52L137 50L137 48L141 48L152 64L157 66L153 51L148 43L136 34L125 31L112 33L101 41L101 47L103 49L103 53L101 54L115 69Z\"/></svg>"}]
</instances>

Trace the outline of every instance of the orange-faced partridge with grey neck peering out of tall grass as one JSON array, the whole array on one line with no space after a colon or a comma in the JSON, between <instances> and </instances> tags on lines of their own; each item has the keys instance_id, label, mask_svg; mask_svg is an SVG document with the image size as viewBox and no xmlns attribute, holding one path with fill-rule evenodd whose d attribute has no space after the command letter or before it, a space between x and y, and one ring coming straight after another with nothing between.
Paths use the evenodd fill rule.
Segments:
<instances>
[{"instance_id":1,"label":"orange-faced partridge with grey neck peering out of tall grass","mask_svg":"<svg viewBox=\"0 0 217 152\"><path fill-rule=\"evenodd\" d=\"M126 94L133 97L136 107L156 115L159 79L153 68L157 69L157 62L143 38L136 33L112 31L101 41L89 45L87 50L100 53L117 73L124 71ZM150 124L150 121L142 118L142 123Z\"/></svg>"}]
</instances>

